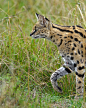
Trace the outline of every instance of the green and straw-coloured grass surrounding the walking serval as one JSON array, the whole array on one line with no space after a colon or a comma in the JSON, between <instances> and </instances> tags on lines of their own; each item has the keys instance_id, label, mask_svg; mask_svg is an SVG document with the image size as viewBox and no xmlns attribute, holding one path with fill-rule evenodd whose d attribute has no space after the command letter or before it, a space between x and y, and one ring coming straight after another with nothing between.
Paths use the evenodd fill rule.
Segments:
<instances>
[{"instance_id":1,"label":"green and straw-coloured grass surrounding the walking serval","mask_svg":"<svg viewBox=\"0 0 86 108\"><path fill-rule=\"evenodd\" d=\"M86 28L85 5L83 0L0 0L1 108L86 106L85 98L74 99L75 74L58 81L62 94L53 90L50 76L63 64L57 47L45 39L34 40L29 36L36 12L59 25Z\"/></svg>"}]
</instances>

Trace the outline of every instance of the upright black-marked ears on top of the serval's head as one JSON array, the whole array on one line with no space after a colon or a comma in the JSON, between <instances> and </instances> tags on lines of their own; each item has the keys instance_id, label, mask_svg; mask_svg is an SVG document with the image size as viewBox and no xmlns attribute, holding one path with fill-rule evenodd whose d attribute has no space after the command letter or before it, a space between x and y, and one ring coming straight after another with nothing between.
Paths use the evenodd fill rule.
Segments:
<instances>
[{"instance_id":1,"label":"upright black-marked ears on top of the serval's head","mask_svg":"<svg viewBox=\"0 0 86 108\"><path fill-rule=\"evenodd\" d=\"M48 29L51 28L52 23L46 17L36 13L37 20L40 24L46 26Z\"/></svg>"}]
</instances>

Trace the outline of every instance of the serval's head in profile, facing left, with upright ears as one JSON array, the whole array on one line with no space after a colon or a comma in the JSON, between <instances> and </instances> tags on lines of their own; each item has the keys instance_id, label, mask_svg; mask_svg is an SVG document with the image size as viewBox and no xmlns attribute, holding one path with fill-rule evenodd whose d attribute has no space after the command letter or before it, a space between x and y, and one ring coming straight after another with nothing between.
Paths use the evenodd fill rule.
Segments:
<instances>
[{"instance_id":1,"label":"serval's head in profile, facing left, with upright ears","mask_svg":"<svg viewBox=\"0 0 86 108\"><path fill-rule=\"evenodd\" d=\"M36 13L38 22L34 25L30 36L33 38L49 38L52 23L46 17Z\"/></svg>"}]
</instances>

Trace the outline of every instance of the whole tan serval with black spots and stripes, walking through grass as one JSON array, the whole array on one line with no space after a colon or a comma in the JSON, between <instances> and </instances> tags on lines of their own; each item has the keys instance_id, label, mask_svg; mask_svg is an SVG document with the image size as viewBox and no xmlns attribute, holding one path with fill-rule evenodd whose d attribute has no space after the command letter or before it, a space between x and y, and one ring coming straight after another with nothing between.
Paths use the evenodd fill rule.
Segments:
<instances>
[{"instance_id":1,"label":"whole tan serval with black spots and stripes, walking through grass","mask_svg":"<svg viewBox=\"0 0 86 108\"><path fill-rule=\"evenodd\" d=\"M60 26L53 24L46 17L36 13L38 22L34 25L30 34L33 38L46 38L52 41L58 48L64 60L61 68L51 75L53 88L62 93L57 80L62 76L76 73L76 97L83 96L84 77L86 66L86 30L83 27Z\"/></svg>"}]
</instances>

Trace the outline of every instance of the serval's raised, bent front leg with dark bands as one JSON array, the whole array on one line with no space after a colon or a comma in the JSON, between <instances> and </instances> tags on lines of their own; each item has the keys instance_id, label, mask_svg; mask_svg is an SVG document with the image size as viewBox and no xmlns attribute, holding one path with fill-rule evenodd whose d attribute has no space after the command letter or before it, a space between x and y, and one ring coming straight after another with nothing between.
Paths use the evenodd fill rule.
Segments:
<instances>
[{"instance_id":1,"label":"serval's raised, bent front leg with dark bands","mask_svg":"<svg viewBox=\"0 0 86 108\"><path fill-rule=\"evenodd\" d=\"M61 68L56 70L52 75L51 75L51 84L53 88L57 91L62 93L62 89L58 86L57 80L61 78L64 75L67 75L75 70L75 64L71 64L71 62L64 64Z\"/></svg>"}]
</instances>

